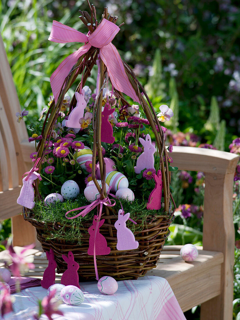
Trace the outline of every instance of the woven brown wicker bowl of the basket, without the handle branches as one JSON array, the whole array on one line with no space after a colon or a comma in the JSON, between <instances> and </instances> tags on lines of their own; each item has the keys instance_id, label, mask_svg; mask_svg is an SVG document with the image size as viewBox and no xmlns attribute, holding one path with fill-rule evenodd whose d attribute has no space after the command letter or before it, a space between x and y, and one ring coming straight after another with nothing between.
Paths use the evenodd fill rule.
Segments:
<instances>
[{"instance_id":1,"label":"woven brown wicker bowl of the basket, without the handle branches","mask_svg":"<svg viewBox=\"0 0 240 320\"><path fill-rule=\"evenodd\" d=\"M55 260L57 263L57 272L62 273L67 269L66 262L62 259L62 254L72 251L74 260L79 264L78 270L80 281L91 281L96 279L93 256L89 256L87 251L89 247L88 228L91 222L86 223L81 228L82 238L81 245L78 241L74 243L66 243L64 239L51 239L52 232L63 226L58 222L44 223L34 219L33 212L27 212L25 209L24 219L28 220L37 230L37 239L42 244L43 251L53 249ZM168 227L173 219L171 216L149 216L146 219L145 228L140 232L134 232L135 240L139 242L139 247L135 250L118 251L117 230L114 223L117 220L115 215L105 215L102 213L101 219L105 219L105 223L100 228L100 233L105 236L107 245L111 248L108 255L97 256L97 271L99 278L102 276L112 276L116 280L137 279L144 276L148 270L156 268L158 258L169 234ZM137 225L141 220L136 220ZM137 226L136 225L136 226ZM65 226L71 228L71 226Z\"/></svg>"}]
</instances>

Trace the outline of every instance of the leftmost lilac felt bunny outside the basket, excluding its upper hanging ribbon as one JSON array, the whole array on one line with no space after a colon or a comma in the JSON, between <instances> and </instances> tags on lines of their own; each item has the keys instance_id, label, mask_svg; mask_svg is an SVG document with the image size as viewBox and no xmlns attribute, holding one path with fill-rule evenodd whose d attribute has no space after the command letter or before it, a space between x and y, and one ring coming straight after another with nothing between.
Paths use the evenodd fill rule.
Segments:
<instances>
[{"instance_id":1,"label":"leftmost lilac felt bunny outside the basket, excluding its upper hanging ribbon","mask_svg":"<svg viewBox=\"0 0 240 320\"><path fill-rule=\"evenodd\" d=\"M35 206L34 203L34 188L32 186L33 181L36 180L38 177L35 173L31 173L26 181L27 177L24 177L22 180L22 188L20 191L20 195L17 199L17 203L26 207L28 209L32 209ZM41 179L42 180L42 179Z\"/></svg>"}]
</instances>

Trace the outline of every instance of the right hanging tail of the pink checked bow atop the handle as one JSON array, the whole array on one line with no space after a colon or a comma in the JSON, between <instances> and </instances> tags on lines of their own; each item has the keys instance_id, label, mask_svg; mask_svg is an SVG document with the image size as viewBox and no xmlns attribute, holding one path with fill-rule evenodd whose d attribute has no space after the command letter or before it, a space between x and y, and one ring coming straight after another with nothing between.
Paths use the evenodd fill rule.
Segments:
<instances>
[{"instance_id":1,"label":"right hanging tail of the pink checked bow atop the handle","mask_svg":"<svg viewBox=\"0 0 240 320\"><path fill-rule=\"evenodd\" d=\"M125 72L120 54L116 47L109 43L100 49L100 58L107 67L108 75L115 89L127 94L134 101L140 103L135 90L133 89Z\"/></svg>"}]
</instances>

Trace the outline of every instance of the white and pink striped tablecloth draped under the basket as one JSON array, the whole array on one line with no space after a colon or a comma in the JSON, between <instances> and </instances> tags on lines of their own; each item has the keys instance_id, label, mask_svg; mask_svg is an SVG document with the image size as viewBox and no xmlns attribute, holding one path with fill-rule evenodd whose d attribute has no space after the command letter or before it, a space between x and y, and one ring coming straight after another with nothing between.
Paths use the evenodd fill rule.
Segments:
<instances>
[{"instance_id":1,"label":"white and pink striped tablecloth draped under the basket","mask_svg":"<svg viewBox=\"0 0 240 320\"><path fill-rule=\"evenodd\" d=\"M58 320L182 320L186 319L164 278L144 276L138 280L118 282L115 294L104 295L97 289L97 281L80 283L85 300L80 306L62 304L64 316L53 315ZM42 287L27 288L15 293L14 314L5 319L32 319L38 310L38 300L47 294ZM41 320L47 319L42 316Z\"/></svg>"}]
</instances>

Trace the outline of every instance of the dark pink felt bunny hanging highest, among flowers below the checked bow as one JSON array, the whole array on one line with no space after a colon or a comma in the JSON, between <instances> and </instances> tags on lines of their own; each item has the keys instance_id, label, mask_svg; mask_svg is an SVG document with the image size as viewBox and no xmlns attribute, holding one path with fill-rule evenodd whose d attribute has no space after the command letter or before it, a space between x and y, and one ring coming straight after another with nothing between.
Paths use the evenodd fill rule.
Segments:
<instances>
[{"instance_id":1,"label":"dark pink felt bunny hanging highest, among flowers below the checked bow","mask_svg":"<svg viewBox=\"0 0 240 320\"><path fill-rule=\"evenodd\" d=\"M115 108L110 109L109 103L105 104L105 107L102 111L102 125L101 125L101 141L106 143L113 143L115 138L112 136L113 129L112 125L108 120L110 116L115 111Z\"/></svg>"}]
</instances>

